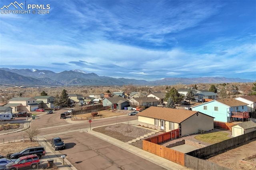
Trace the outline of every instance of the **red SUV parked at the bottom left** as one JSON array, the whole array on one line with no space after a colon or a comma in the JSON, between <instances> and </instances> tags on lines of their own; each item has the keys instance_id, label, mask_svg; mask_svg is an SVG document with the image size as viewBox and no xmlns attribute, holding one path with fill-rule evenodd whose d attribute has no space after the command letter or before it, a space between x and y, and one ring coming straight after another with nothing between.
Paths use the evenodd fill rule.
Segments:
<instances>
[{"instance_id":1,"label":"red SUV parked at the bottom left","mask_svg":"<svg viewBox=\"0 0 256 170\"><path fill-rule=\"evenodd\" d=\"M40 160L36 154L31 154L27 156L22 156L15 160L14 162L9 162L5 166L5 170L16 170L30 167L32 169L36 169L36 167L40 164Z\"/></svg>"}]
</instances>

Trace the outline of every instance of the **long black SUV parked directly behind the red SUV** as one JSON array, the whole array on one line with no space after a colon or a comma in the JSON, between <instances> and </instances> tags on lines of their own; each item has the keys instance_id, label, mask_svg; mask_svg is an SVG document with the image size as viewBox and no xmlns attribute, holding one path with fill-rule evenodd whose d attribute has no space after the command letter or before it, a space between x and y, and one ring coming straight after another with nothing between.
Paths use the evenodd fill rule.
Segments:
<instances>
[{"instance_id":1,"label":"long black SUV parked directly behind the red SUV","mask_svg":"<svg viewBox=\"0 0 256 170\"><path fill-rule=\"evenodd\" d=\"M18 159L21 156L36 154L38 158L40 159L42 156L45 156L45 149L43 146L36 146L36 147L30 147L22 150L21 152L17 152L14 154L11 154L11 159Z\"/></svg>"}]
</instances>

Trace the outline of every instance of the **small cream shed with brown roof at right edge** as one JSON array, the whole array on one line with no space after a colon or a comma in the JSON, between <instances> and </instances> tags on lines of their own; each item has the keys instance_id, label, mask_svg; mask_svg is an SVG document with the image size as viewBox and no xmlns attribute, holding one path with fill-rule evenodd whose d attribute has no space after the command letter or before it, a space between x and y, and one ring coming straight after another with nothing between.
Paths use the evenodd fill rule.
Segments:
<instances>
[{"instance_id":1,"label":"small cream shed with brown roof at right edge","mask_svg":"<svg viewBox=\"0 0 256 170\"><path fill-rule=\"evenodd\" d=\"M256 130L256 123L253 121L238 123L232 127L232 136L236 137L242 134L253 132Z\"/></svg>"}]
</instances>

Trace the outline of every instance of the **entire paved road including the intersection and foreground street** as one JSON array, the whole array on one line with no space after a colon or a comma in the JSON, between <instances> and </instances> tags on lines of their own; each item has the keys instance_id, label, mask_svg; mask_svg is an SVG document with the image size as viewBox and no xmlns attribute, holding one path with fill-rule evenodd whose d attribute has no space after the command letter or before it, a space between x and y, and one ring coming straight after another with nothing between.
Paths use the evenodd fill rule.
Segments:
<instances>
[{"instance_id":1,"label":"entire paved road including the intersection and foreground street","mask_svg":"<svg viewBox=\"0 0 256 170\"><path fill-rule=\"evenodd\" d=\"M50 140L52 137L59 136L66 143L66 149L62 154L67 154L67 159L74 164L78 170L120 170L120 169L147 169L161 170L164 169L156 164L142 159L139 156L121 149L105 140L99 139L86 130L90 129L90 123L68 123L65 119L60 119L61 111L55 111L54 114L42 115L30 123L31 127L38 127L40 137ZM118 120L128 122L137 119L127 115L118 118L97 119L92 121L92 127L115 124ZM24 132L0 135L6 140L22 139ZM50 144L49 142L47 142Z\"/></svg>"}]
</instances>

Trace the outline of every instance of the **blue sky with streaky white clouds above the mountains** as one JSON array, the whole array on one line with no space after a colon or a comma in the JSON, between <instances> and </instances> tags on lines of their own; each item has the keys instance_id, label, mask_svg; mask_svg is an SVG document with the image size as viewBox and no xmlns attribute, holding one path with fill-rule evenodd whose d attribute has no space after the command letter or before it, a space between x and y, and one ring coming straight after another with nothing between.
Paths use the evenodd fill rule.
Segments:
<instances>
[{"instance_id":1,"label":"blue sky with streaky white clouds above the mountains","mask_svg":"<svg viewBox=\"0 0 256 170\"><path fill-rule=\"evenodd\" d=\"M50 4L49 14L1 10L0 67L256 80L256 0L16 2Z\"/></svg>"}]
</instances>

